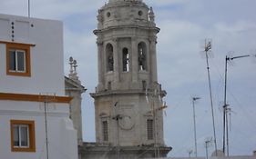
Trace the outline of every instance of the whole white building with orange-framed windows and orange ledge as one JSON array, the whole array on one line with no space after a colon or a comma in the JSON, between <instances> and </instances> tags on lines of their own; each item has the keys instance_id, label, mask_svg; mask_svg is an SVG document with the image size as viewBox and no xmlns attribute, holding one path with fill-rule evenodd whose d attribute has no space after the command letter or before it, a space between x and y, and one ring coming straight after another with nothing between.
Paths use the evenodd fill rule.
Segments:
<instances>
[{"instance_id":1,"label":"whole white building with orange-framed windows and orange ledge","mask_svg":"<svg viewBox=\"0 0 256 159\"><path fill-rule=\"evenodd\" d=\"M0 158L77 159L64 81L62 23L0 15Z\"/></svg>"}]
</instances>

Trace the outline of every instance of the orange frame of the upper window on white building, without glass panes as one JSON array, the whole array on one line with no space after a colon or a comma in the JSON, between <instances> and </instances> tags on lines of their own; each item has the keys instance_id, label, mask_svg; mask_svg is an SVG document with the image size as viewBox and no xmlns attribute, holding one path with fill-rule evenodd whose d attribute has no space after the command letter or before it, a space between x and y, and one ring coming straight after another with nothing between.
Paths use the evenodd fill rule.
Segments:
<instances>
[{"instance_id":1,"label":"orange frame of the upper window on white building, without glass panes","mask_svg":"<svg viewBox=\"0 0 256 159\"><path fill-rule=\"evenodd\" d=\"M30 46L31 45L15 44L15 43L6 44L6 75L31 76ZM15 59L15 70L10 69L10 51L15 51L15 57L17 56L18 51L22 51L25 53L25 58L24 58L25 71L18 71L17 59Z\"/></svg>"}]
</instances>

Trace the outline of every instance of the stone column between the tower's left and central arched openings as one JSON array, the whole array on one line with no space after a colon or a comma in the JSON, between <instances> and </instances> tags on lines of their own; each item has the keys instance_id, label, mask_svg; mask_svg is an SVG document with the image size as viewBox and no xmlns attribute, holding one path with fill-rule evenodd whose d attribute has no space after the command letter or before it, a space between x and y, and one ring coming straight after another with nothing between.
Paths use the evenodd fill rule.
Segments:
<instances>
[{"instance_id":1,"label":"stone column between the tower's left and central arched openings","mask_svg":"<svg viewBox=\"0 0 256 159\"><path fill-rule=\"evenodd\" d=\"M114 82L119 82L118 38L113 39Z\"/></svg>"}]
</instances>

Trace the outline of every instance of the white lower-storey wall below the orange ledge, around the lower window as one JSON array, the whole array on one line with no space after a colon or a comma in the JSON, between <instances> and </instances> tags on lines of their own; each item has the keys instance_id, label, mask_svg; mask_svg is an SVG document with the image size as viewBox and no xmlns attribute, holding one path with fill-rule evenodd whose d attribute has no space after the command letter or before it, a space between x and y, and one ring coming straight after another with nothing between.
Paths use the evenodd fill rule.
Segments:
<instances>
[{"instance_id":1,"label":"white lower-storey wall below the orange ledge, around the lower window","mask_svg":"<svg viewBox=\"0 0 256 159\"><path fill-rule=\"evenodd\" d=\"M0 101L0 154L3 159L46 159L44 103ZM77 131L68 104L46 104L49 157L77 159ZM11 152L10 120L35 121L36 153Z\"/></svg>"}]
</instances>

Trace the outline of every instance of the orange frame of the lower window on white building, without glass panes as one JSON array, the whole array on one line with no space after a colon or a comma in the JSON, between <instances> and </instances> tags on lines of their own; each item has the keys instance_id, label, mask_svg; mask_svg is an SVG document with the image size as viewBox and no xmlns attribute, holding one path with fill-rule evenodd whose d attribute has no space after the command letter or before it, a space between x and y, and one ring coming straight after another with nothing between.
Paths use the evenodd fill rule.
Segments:
<instances>
[{"instance_id":1,"label":"orange frame of the lower window on white building, without glass panes","mask_svg":"<svg viewBox=\"0 0 256 159\"><path fill-rule=\"evenodd\" d=\"M20 126L28 126L28 132L27 132L27 146L22 146L19 144L16 146L14 144L14 129L15 125L18 125L19 129ZM36 138L35 138L35 121L26 121L26 120L11 120L10 121L10 132L11 132L11 151L12 152L36 152ZM19 133L20 136L20 133Z\"/></svg>"}]
</instances>

